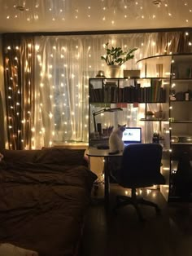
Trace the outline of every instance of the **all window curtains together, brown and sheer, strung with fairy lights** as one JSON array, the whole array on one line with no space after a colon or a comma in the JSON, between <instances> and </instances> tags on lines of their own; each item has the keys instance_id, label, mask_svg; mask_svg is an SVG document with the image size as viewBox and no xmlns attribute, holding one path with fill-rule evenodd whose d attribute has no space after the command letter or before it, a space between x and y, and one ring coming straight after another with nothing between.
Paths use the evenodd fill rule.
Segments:
<instances>
[{"instance_id":1,"label":"all window curtains together, brown and sheer, strung with fairy lights","mask_svg":"<svg viewBox=\"0 0 192 256\"><path fill-rule=\"evenodd\" d=\"M181 49L182 41L185 49ZM98 70L107 74L107 65L100 60L106 42L124 50L138 48L134 60L122 69L141 69L135 63L146 56L191 51L190 33L181 32L34 38L7 34L2 42L7 148L13 149L88 141L89 77L95 77ZM140 125L137 113L142 113L142 104L132 108L127 105L120 121L127 123L129 118L133 123L136 118Z\"/></svg>"}]
</instances>

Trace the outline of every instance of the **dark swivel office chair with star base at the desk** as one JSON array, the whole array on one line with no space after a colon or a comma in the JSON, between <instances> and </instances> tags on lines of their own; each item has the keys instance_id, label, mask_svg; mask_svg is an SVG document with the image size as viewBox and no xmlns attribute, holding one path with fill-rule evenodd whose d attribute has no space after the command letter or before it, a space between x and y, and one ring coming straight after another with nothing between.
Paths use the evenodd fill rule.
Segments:
<instances>
[{"instance_id":1,"label":"dark swivel office chair with star base at the desk","mask_svg":"<svg viewBox=\"0 0 192 256\"><path fill-rule=\"evenodd\" d=\"M137 197L137 188L151 187L164 184L164 176L160 173L162 147L158 143L132 144L124 148L121 167L114 177L123 188L131 188L131 197L116 196L115 211L124 205L133 205L137 210L138 218L142 221L141 210L138 205L155 207L160 213L159 206L154 202Z\"/></svg>"}]
</instances>

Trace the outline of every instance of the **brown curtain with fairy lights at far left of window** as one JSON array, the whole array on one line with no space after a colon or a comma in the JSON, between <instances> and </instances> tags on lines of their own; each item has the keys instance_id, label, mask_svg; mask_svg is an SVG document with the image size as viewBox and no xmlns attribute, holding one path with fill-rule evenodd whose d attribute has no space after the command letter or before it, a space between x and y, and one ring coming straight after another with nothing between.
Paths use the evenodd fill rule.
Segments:
<instances>
[{"instance_id":1,"label":"brown curtain with fairy lights at far left of window","mask_svg":"<svg viewBox=\"0 0 192 256\"><path fill-rule=\"evenodd\" d=\"M28 149L32 145L33 117L33 38L7 34L2 37L7 145Z\"/></svg>"}]
</instances>

